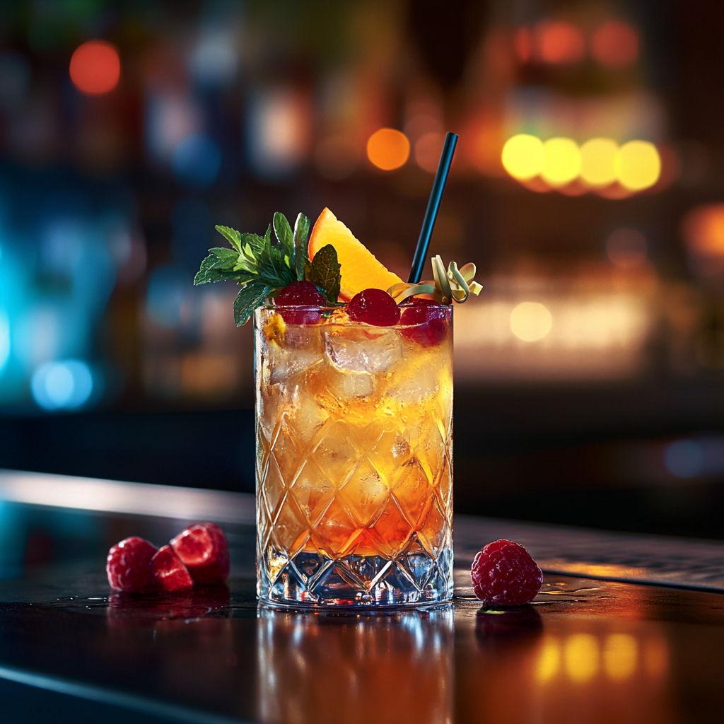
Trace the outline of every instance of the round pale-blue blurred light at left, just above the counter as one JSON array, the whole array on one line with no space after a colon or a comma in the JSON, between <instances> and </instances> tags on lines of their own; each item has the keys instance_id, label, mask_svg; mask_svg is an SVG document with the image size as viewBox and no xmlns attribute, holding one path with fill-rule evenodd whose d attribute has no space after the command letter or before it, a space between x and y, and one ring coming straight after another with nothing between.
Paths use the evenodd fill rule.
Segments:
<instances>
[{"instance_id":1,"label":"round pale-blue blurred light at left, just above the counter","mask_svg":"<svg viewBox=\"0 0 724 724\"><path fill-rule=\"evenodd\" d=\"M43 410L74 410L88 402L93 374L80 360L46 362L33 373L30 390Z\"/></svg>"}]
</instances>

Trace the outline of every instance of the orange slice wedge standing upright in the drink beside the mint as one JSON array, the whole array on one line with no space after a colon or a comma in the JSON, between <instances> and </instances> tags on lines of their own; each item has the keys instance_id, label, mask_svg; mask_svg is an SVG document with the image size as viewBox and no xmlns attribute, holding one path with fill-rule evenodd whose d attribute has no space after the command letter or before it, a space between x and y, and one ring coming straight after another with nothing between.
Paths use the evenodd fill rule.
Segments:
<instances>
[{"instance_id":1,"label":"orange slice wedge standing upright in the drink beside the mint","mask_svg":"<svg viewBox=\"0 0 724 724\"><path fill-rule=\"evenodd\" d=\"M349 301L363 289L382 289L386 292L392 285L402 281L397 274L392 274L392 271L380 264L374 254L355 239L353 233L332 211L324 209L309 237L310 260L327 244L332 244L337 251L337 260L342 267L340 300Z\"/></svg>"}]
</instances>

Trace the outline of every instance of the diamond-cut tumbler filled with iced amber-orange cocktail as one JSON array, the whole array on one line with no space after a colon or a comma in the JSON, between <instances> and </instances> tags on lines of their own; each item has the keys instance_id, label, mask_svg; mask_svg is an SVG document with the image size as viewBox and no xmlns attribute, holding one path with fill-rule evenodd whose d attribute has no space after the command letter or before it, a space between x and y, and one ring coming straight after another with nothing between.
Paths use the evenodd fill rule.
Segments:
<instances>
[{"instance_id":1,"label":"diamond-cut tumbler filled with iced amber-orange cocktail","mask_svg":"<svg viewBox=\"0 0 724 724\"><path fill-rule=\"evenodd\" d=\"M262 600L452 598L452 307L426 309L395 327L345 308L256 310Z\"/></svg>"}]
</instances>

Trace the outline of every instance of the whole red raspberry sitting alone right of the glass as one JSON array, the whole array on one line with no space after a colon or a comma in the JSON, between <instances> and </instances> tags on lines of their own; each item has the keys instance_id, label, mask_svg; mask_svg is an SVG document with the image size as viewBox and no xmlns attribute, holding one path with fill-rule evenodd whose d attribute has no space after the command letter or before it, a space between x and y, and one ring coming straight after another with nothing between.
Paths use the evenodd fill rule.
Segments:
<instances>
[{"instance_id":1,"label":"whole red raspberry sitting alone right of the glass","mask_svg":"<svg viewBox=\"0 0 724 724\"><path fill-rule=\"evenodd\" d=\"M504 539L487 544L476 555L471 578L481 601L500 606L528 603L543 585L543 572L529 552Z\"/></svg>"}]
</instances>

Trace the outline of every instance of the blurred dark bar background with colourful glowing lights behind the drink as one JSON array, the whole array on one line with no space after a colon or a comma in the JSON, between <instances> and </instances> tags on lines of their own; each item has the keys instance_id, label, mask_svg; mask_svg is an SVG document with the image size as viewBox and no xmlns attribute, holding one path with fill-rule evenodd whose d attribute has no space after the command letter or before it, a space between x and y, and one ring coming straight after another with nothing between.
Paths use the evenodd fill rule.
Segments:
<instances>
[{"instance_id":1,"label":"blurred dark bar background with colourful glowing lights behind the drink","mask_svg":"<svg viewBox=\"0 0 724 724\"><path fill-rule=\"evenodd\" d=\"M214 224L329 206L455 309L460 513L724 537L717 0L4 0L0 467L253 491ZM429 268L425 275L429 275Z\"/></svg>"}]
</instances>

